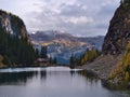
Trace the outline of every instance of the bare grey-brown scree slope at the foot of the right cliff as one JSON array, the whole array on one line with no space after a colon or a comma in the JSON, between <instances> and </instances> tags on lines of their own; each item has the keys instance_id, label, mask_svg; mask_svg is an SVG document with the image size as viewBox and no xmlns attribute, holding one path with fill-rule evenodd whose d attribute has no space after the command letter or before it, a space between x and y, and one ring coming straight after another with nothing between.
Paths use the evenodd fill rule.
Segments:
<instances>
[{"instance_id":1,"label":"bare grey-brown scree slope at the foot of the right cliff","mask_svg":"<svg viewBox=\"0 0 130 97\"><path fill-rule=\"evenodd\" d=\"M77 67L89 72L94 73L98 78L106 81L109 77L112 69L116 68L119 61L122 59L122 54L118 56L101 55L94 61L88 63L81 67Z\"/></svg>"}]
</instances>

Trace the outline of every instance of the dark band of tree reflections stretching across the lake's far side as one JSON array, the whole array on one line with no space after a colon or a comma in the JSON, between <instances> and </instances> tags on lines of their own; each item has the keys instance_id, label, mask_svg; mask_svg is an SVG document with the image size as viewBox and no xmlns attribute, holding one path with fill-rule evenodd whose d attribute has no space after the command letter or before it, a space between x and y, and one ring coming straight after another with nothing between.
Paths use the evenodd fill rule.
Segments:
<instances>
[{"instance_id":1,"label":"dark band of tree reflections stretching across the lake's far side","mask_svg":"<svg viewBox=\"0 0 130 97\"><path fill-rule=\"evenodd\" d=\"M89 81L91 84L96 83L98 79L91 73L87 73L86 71L22 71L22 72L0 72L0 85L3 84L26 84L28 81L34 80L32 78L37 78L42 80L47 80L47 75L70 75L75 78L76 75L86 78L87 82Z\"/></svg>"}]
</instances>

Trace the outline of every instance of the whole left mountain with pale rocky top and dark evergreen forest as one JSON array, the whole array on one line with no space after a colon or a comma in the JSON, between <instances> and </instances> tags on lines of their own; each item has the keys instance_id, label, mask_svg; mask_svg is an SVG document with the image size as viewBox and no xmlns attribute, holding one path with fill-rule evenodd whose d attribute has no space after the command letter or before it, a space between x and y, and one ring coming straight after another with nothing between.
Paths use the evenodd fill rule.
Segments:
<instances>
[{"instance_id":1,"label":"whole left mountain with pale rocky top and dark evergreen forest","mask_svg":"<svg viewBox=\"0 0 130 97\"><path fill-rule=\"evenodd\" d=\"M36 60L24 22L16 15L0 10L0 56L9 66L28 66Z\"/></svg>"}]
</instances>

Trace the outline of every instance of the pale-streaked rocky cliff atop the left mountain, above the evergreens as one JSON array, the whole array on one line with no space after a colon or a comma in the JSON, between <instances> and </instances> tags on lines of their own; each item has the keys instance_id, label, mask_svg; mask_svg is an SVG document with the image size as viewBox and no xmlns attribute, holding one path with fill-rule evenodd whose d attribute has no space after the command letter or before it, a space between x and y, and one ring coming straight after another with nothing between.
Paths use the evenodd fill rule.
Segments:
<instances>
[{"instance_id":1,"label":"pale-streaked rocky cliff atop the left mountain, above the evergreens","mask_svg":"<svg viewBox=\"0 0 130 97\"><path fill-rule=\"evenodd\" d=\"M26 27L18 16L0 10L0 27L12 36L28 40Z\"/></svg>"}]
</instances>

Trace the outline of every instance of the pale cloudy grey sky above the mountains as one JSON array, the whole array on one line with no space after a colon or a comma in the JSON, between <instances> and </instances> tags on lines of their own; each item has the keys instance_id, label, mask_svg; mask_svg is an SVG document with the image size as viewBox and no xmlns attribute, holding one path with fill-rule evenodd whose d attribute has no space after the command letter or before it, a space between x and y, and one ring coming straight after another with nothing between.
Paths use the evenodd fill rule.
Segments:
<instances>
[{"instance_id":1,"label":"pale cloudy grey sky above the mountains","mask_svg":"<svg viewBox=\"0 0 130 97\"><path fill-rule=\"evenodd\" d=\"M120 0L0 0L29 32L60 30L77 37L105 36Z\"/></svg>"}]
</instances>

